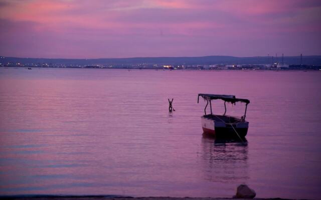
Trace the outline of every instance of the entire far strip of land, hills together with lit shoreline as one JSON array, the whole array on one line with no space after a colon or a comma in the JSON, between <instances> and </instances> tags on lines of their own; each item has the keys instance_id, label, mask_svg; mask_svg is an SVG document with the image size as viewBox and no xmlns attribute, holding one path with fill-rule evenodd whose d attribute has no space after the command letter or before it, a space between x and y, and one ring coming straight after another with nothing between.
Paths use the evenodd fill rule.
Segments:
<instances>
[{"instance_id":1,"label":"entire far strip of land, hills together with lit shoreline","mask_svg":"<svg viewBox=\"0 0 321 200\"><path fill-rule=\"evenodd\" d=\"M197 66L197 65L321 65L321 55L297 55L297 56L252 56L235 57L226 55L210 55L195 57L127 57L127 58L26 58L0 56L0 65L100 65L100 66Z\"/></svg>"}]
</instances>

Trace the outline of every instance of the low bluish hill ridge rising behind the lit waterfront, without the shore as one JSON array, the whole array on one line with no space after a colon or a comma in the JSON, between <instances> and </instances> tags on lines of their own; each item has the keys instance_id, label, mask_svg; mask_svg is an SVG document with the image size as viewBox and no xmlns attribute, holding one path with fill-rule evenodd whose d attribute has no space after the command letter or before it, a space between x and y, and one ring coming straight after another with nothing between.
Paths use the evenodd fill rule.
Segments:
<instances>
[{"instance_id":1,"label":"low bluish hill ridge rising behind the lit waterfront, without the shore","mask_svg":"<svg viewBox=\"0 0 321 200\"><path fill-rule=\"evenodd\" d=\"M300 56L284 56L286 64L300 64ZM282 57L273 58L281 62ZM52 64L267 64L272 57L234 57L212 55L201 57L132 57L132 58L99 58L99 59L51 59L51 58L20 58L1 56L0 63L52 63ZM302 56L302 64L321 65L321 55Z\"/></svg>"}]
</instances>

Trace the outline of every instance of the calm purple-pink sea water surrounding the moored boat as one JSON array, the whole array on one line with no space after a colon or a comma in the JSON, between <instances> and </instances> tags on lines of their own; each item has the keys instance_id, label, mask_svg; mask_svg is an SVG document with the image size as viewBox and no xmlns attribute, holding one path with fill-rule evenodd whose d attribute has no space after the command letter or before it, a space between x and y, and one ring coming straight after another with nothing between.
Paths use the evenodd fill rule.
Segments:
<instances>
[{"instance_id":1,"label":"calm purple-pink sea water surrounding the moored boat","mask_svg":"<svg viewBox=\"0 0 321 200\"><path fill-rule=\"evenodd\" d=\"M251 100L247 143L202 135L198 93ZM0 68L0 195L317 199L320 108L319 71Z\"/></svg>"}]
</instances>

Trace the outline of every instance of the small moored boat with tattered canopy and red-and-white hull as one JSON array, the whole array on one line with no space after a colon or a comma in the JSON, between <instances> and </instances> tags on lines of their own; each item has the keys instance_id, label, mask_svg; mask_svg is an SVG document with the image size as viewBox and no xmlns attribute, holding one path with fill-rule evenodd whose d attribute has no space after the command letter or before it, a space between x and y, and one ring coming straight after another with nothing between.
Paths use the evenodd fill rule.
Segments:
<instances>
[{"instance_id":1,"label":"small moored boat with tattered canopy and red-and-white hull","mask_svg":"<svg viewBox=\"0 0 321 200\"><path fill-rule=\"evenodd\" d=\"M216 137L223 138L244 138L247 134L249 127L249 122L245 120L247 105L250 100L244 98L236 98L235 95L221 95L221 94L203 94L200 93L197 98L197 103L199 103L199 98L203 97L207 103L204 109L205 114L201 117L202 128L204 133L215 135ZM214 99L224 100L225 112L222 115L212 113L212 102ZM226 115L226 102L245 103L245 112L241 117ZM211 114L206 113L206 108L210 103Z\"/></svg>"}]
</instances>

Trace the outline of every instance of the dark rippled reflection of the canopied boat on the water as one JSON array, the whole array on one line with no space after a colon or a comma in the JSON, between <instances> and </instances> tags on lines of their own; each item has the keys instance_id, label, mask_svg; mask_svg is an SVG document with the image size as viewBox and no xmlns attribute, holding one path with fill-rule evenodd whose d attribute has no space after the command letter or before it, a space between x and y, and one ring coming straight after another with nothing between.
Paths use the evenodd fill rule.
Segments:
<instances>
[{"instance_id":1,"label":"dark rippled reflection of the canopied boat on the water","mask_svg":"<svg viewBox=\"0 0 321 200\"><path fill-rule=\"evenodd\" d=\"M205 179L214 182L245 182L248 176L248 142L215 139L208 134L202 137L202 160Z\"/></svg>"}]
</instances>

